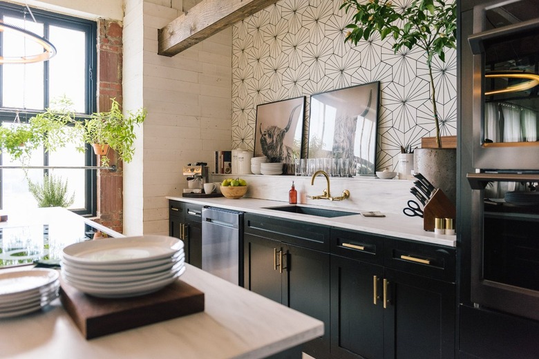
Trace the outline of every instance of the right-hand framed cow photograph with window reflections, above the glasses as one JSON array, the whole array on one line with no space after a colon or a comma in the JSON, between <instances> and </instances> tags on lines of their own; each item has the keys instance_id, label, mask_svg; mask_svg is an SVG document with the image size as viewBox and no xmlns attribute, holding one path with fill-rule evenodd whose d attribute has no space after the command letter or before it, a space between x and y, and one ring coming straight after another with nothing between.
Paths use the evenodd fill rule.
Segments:
<instances>
[{"instance_id":1,"label":"right-hand framed cow photograph with window reflections, above the glasses","mask_svg":"<svg viewBox=\"0 0 539 359\"><path fill-rule=\"evenodd\" d=\"M375 175L380 83L311 95L308 158L332 159L330 175Z\"/></svg>"}]
</instances>

